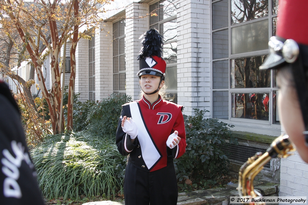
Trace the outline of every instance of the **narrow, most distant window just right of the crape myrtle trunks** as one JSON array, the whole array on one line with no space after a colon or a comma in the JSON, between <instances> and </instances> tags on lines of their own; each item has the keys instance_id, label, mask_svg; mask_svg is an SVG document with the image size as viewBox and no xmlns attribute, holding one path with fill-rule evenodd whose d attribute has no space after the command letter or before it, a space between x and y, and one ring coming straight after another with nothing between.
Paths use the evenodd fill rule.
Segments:
<instances>
[{"instance_id":1,"label":"narrow, most distant window just right of the crape myrtle trunks","mask_svg":"<svg viewBox=\"0 0 308 205\"><path fill-rule=\"evenodd\" d=\"M89 100L95 101L95 35L89 40Z\"/></svg>"}]
</instances>

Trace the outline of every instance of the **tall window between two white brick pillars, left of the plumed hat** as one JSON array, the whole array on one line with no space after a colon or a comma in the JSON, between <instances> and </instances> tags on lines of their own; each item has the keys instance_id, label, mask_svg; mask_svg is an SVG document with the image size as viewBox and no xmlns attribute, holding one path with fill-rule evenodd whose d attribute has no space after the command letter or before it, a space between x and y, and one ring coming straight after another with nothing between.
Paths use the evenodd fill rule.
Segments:
<instances>
[{"instance_id":1,"label":"tall window between two white brick pillars, left of the plumed hat","mask_svg":"<svg viewBox=\"0 0 308 205\"><path fill-rule=\"evenodd\" d=\"M125 19L113 23L113 93L126 94Z\"/></svg>"}]
</instances>

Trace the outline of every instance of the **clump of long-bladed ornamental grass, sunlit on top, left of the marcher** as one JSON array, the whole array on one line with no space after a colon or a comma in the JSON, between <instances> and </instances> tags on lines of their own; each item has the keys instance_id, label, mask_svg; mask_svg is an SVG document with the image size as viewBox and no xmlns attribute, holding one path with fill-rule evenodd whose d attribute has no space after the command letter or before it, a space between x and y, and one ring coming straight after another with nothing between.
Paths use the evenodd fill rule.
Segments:
<instances>
[{"instance_id":1,"label":"clump of long-bladed ornamental grass, sunlit on top, left of the marcher","mask_svg":"<svg viewBox=\"0 0 308 205\"><path fill-rule=\"evenodd\" d=\"M30 155L46 199L78 199L82 194L109 198L122 190L117 168L125 167L126 157L112 141L87 132L50 135Z\"/></svg>"}]
</instances>

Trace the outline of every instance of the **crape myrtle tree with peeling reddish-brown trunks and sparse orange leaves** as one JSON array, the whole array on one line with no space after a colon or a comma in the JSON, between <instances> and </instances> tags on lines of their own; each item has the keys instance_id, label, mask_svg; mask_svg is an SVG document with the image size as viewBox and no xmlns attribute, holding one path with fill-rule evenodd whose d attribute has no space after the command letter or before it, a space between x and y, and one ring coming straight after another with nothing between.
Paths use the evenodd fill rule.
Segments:
<instances>
[{"instance_id":1,"label":"crape myrtle tree with peeling reddish-brown trunks and sparse orange leaves","mask_svg":"<svg viewBox=\"0 0 308 205\"><path fill-rule=\"evenodd\" d=\"M67 41L70 41L71 75L68 89L67 129L71 130L73 127L76 45L81 37L90 38L86 35L87 30L81 33L79 29L99 25L97 22L102 20L99 14L104 12L103 5L109 1L112 0L39 0L34 2L0 0L0 23L2 26L11 25L10 29L14 28L22 40L23 47L36 70L39 87L47 101L54 133L64 131L60 84L63 67L59 67L58 61L60 49ZM47 90L42 72L43 58L46 55L40 52L41 43L46 46L51 58L50 91Z\"/></svg>"}]
</instances>

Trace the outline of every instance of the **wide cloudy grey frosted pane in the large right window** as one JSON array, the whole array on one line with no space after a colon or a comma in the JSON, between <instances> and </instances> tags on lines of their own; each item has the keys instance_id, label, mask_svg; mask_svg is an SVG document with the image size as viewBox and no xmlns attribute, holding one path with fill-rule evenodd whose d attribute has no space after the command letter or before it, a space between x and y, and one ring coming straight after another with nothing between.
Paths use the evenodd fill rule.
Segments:
<instances>
[{"instance_id":1,"label":"wide cloudy grey frosted pane in the large right window","mask_svg":"<svg viewBox=\"0 0 308 205\"><path fill-rule=\"evenodd\" d=\"M231 30L232 54L268 49L268 19L233 27Z\"/></svg>"}]
</instances>

